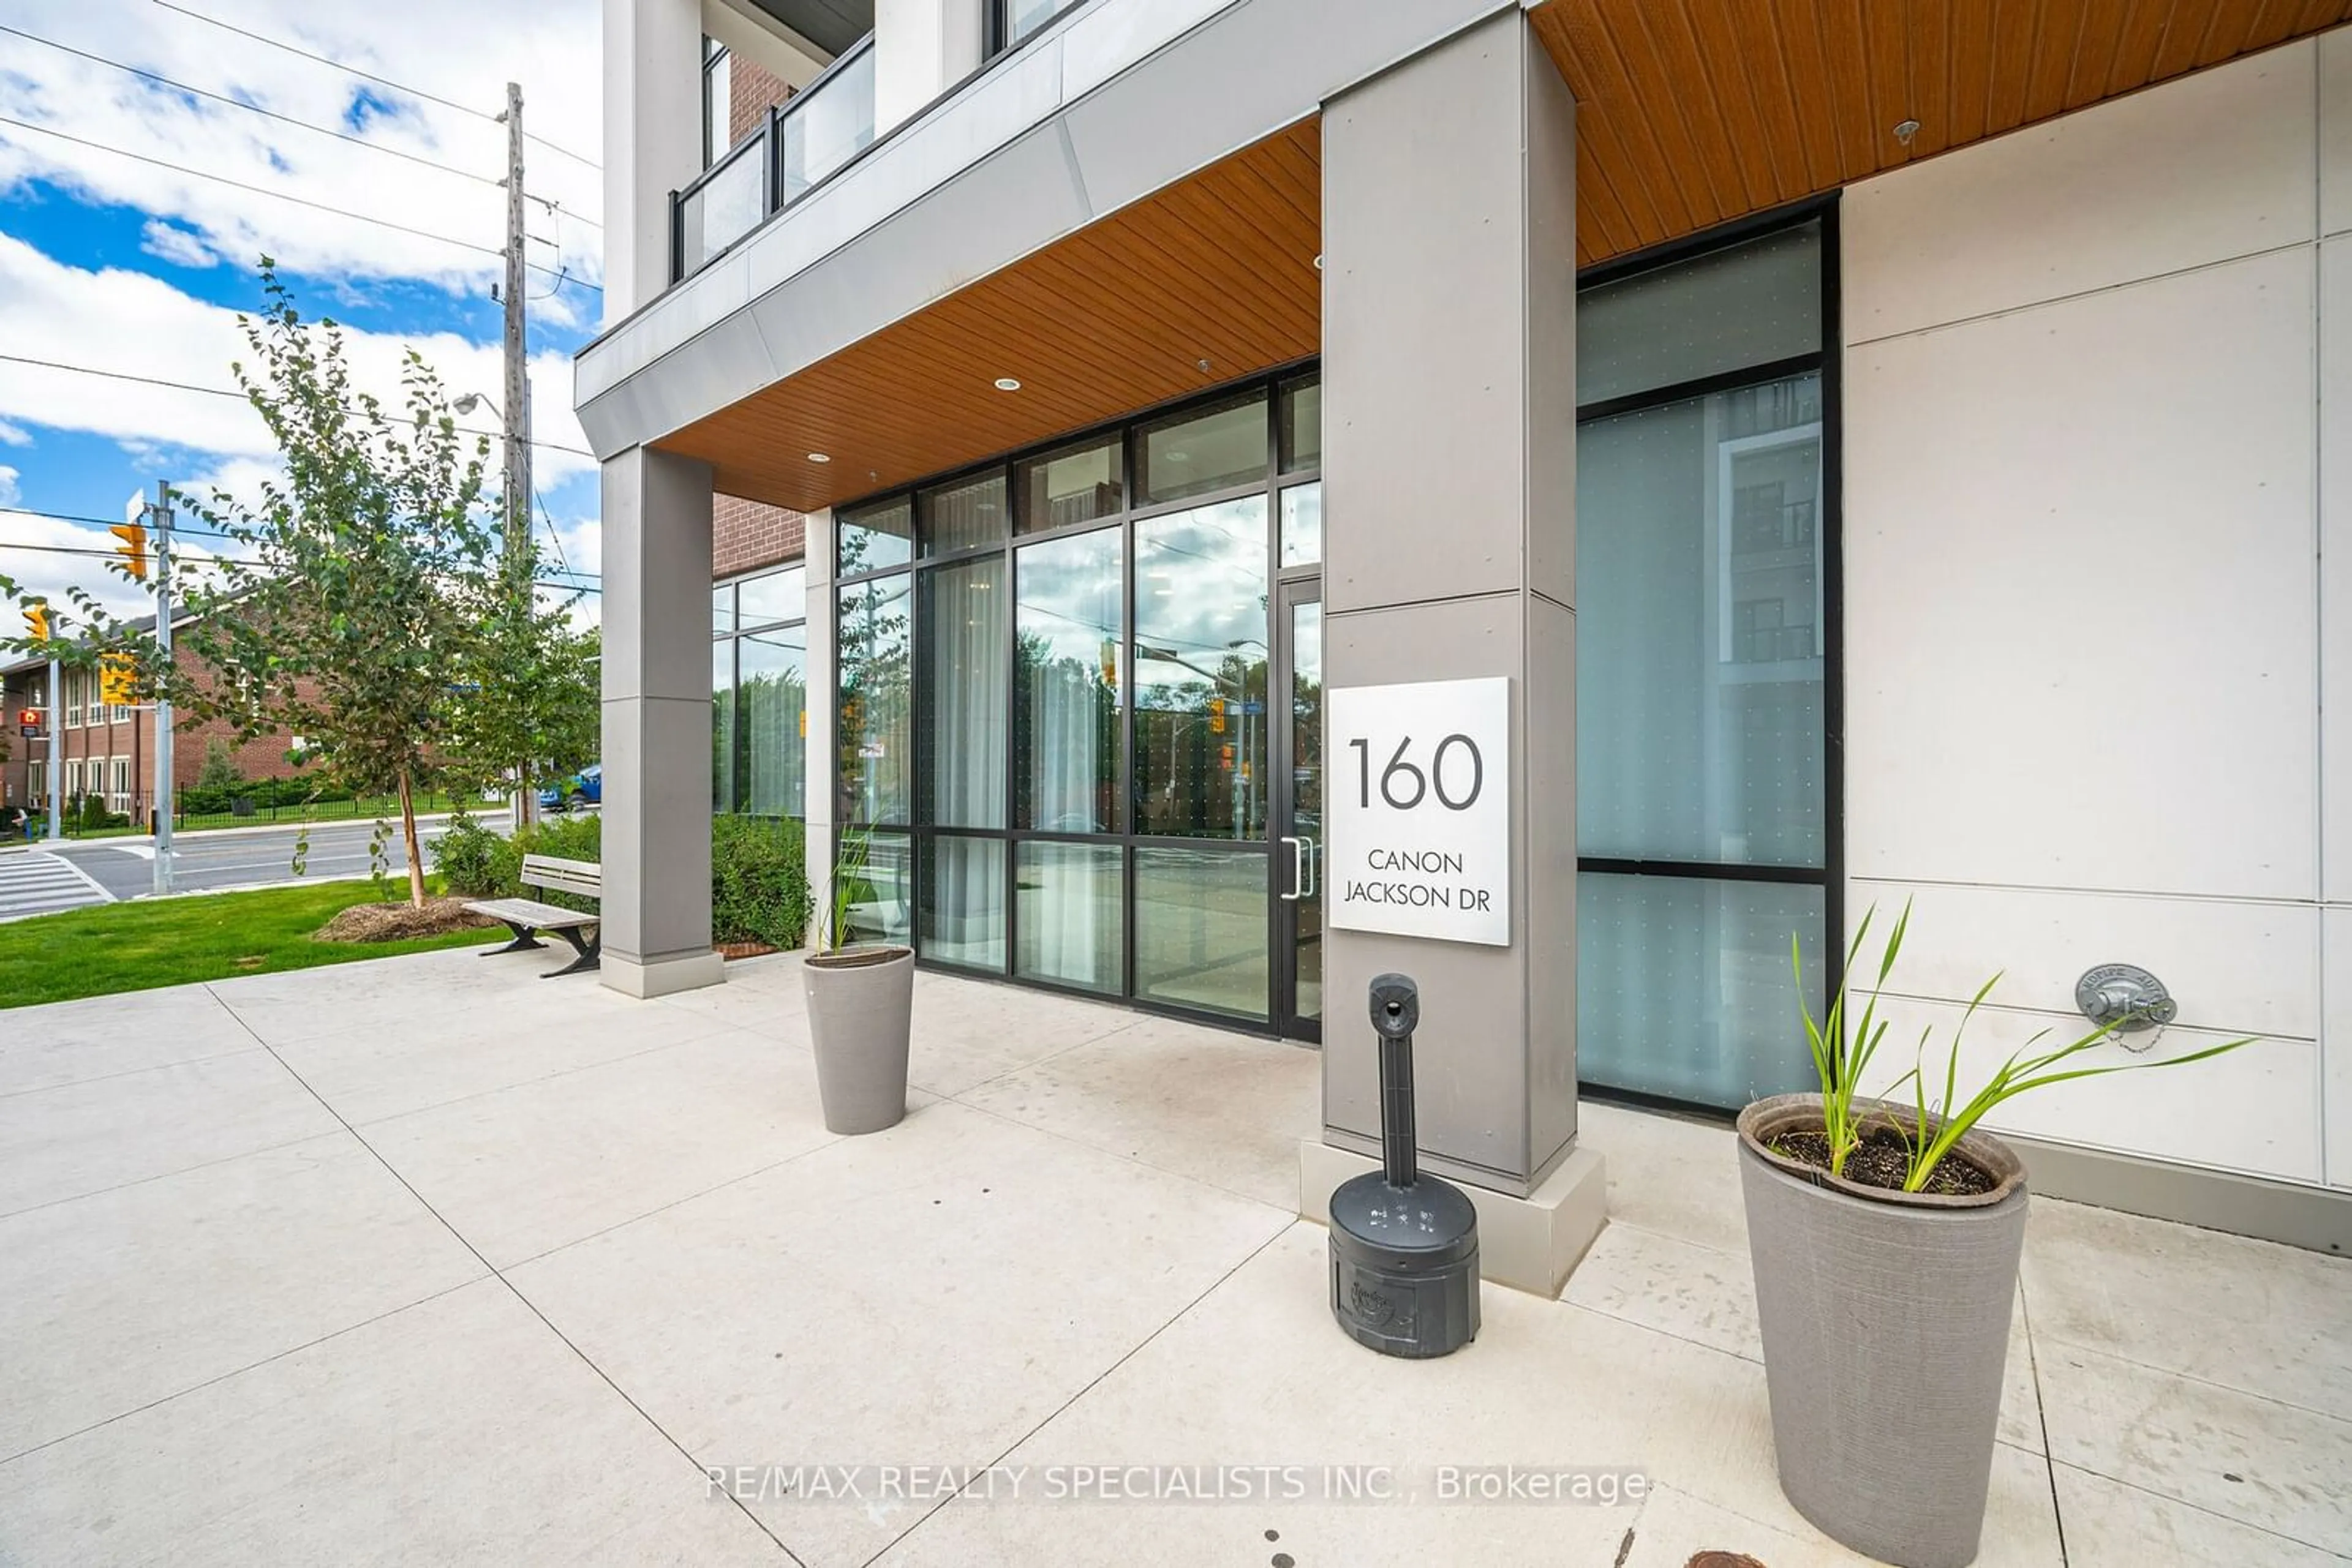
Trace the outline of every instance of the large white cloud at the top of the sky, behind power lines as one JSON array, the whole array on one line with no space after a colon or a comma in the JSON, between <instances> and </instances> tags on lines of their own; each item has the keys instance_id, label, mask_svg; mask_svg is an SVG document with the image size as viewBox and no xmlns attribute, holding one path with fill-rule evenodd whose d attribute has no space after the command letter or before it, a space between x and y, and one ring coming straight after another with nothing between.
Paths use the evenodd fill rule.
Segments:
<instances>
[{"instance_id":1,"label":"large white cloud at the top of the sky, behind power lines","mask_svg":"<svg viewBox=\"0 0 2352 1568\"><path fill-rule=\"evenodd\" d=\"M303 0L207 0L207 12L261 38L414 85L496 113L506 82L524 85L524 125L590 158L602 153L602 71L595 0L405 0L397 9ZM191 87L339 127L339 141L235 103L195 99L106 63L24 38L0 38L0 113L82 143L0 127L0 188L56 181L96 202L169 219L205 249L249 266L270 254L313 275L405 277L449 292L485 292L503 242L506 132L485 118L372 87L343 71L238 38L146 0L19 0L9 21L26 33L153 71ZM456 45L463 40L463 45ZM151 160L202 169L202 179ZM407 158L390 158L393 148ZM426 162L414 162L426 160ZM449 165L452 174L426 165ZM543 244L532 261L602 282L600 174L527 143L524 188L560 202L562 216L529 207ZM299 200L285 200L299 197ZM360 212L362 223L320 207ZM463 249L445 240L463 240ZM153 235L151 235L153 237ZM534 275L546 289L548 275ZM557 320L555 299L539 301Z\"/></svg>"}]
</instances>

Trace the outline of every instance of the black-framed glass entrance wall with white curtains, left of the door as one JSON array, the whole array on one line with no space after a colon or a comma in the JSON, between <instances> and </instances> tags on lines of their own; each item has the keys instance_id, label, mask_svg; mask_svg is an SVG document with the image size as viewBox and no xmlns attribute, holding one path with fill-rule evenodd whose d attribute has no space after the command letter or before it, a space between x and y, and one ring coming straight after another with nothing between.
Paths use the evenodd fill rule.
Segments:
<instances>
[{"instance_id":1,"label":"black-framed glass entrance wall with white curtains, left of the door","mask_svg":"<svg viewBox=\"0 0 2352 1568\"><path fill-rule=\"evenodd\" d=\"M1270 1018L1268 599L1319 562L1319 430L1312 374L1256 381L840 512L837 799L924 961Z\"/></svg>"}]
</instances>

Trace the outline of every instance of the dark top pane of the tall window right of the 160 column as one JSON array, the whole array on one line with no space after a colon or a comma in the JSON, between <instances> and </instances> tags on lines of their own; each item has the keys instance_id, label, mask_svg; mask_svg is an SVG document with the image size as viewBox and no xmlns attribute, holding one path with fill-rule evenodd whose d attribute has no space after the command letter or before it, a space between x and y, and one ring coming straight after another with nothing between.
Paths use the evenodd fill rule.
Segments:
<instances>
[{"instance_id":1,"label":"dark top pane of the tall window right of the 160 column","mask_svg":"<svg viewBox=\"0 0 2352 1568\"><path fill-rule=\"evenodd\" d=\"M1578 294L1576 402L1590 407L1816 348L1820 226L1806 223Z\"/></svg>"}]
</instances>

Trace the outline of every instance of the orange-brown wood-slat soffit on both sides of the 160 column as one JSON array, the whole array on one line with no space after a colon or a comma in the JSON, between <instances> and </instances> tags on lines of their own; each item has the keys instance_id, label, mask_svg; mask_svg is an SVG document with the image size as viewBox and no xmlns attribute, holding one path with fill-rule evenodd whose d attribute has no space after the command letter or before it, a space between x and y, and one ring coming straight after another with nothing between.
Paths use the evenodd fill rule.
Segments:
<instances>
[{"instance_id":1,"label":"orange-brown wood-slat soffit on both sides of the 160 column","mask_svg":"<svg viewBox=\"0 0 2352 1568\"><path fill-rule=\"evenodd\" d=\"M1576 259L1592 266L2347 14L2352 0L1545 0L1529 24L1576 94ZM1317 252L1322 125L1303 120L659 444L708 461L734 496L868 496L1315 355Z\"/></svg>"}]
</instances>

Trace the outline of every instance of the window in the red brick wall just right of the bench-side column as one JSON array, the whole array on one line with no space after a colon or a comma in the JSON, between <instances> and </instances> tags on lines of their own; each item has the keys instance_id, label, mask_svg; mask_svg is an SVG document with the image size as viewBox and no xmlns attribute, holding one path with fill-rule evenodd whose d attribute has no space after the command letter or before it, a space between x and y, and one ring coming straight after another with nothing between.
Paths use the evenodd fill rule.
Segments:
<instances>
[{"instance_id":1,"label":"window in the red brick wall just right of the bench-side column","mask_svg":"<svg viewBox=\"0 0 2352 1568\"><path fill-rule=\"evenodd\" d=\"M807 571L710 590L710 809L809 813Z\"/></svg>"}]
</instances>

